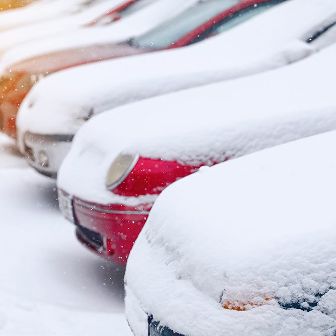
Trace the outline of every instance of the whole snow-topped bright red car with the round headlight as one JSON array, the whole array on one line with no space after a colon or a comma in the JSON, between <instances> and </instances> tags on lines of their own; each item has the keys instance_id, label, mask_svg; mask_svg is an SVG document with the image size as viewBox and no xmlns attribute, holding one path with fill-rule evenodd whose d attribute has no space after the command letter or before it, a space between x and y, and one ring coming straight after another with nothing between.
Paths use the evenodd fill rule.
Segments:
<instances>
[{"instance_id":1,"label":"whole snow-topped bright red car with the round headlight","mask_svg":"<svg viewBox=\"0 0 336 336\"><path fill-rule=\"evenodd\" d=\"M202 165L336 129L335 56L336 44L286 67L92 118L57 180L60 209L77 238L125 264L166 186Z\"/></svg>"}]
</instances>

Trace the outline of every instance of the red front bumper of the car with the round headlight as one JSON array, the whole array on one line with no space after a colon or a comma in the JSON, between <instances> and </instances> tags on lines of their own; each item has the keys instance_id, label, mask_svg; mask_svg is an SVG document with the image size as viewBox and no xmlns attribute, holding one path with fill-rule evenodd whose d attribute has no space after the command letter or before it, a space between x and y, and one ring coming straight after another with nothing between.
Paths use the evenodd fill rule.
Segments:
<instances>
[{"instance_id":1,"label":"red front bumper of the car with the round headlight","mask_svg":"<svg viewBox=\"0 0 336 336\"><path fill-rule=\"evenodd\" d=\"M59 197L67 196L59 192ZM77 239L100 256L126 265L152 204L136 207L121 204L100 205L75 197L70 203L71 219L77 226ZM64 213L64 209L61 210Z\"/></svg>"}]
</instances>

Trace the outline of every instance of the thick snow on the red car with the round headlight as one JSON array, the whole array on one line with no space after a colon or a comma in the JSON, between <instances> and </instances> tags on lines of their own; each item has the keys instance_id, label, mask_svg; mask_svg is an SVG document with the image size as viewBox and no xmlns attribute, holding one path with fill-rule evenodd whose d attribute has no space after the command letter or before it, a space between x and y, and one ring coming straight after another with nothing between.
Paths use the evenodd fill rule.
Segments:
<instances>
[{"instance_id":1,"label":"thick snow on the red car with the round headlight","mask_svg":"<svg viewBox=\"0 0 336 336\"><path fill-rule=\"evenodd\" d=\"M98 115L76 134L58 186L93 202L123 203L105 187L121 152L209 164L336 129L335 55L333 45L283 68Z\"/></svg>"}]
</instances>

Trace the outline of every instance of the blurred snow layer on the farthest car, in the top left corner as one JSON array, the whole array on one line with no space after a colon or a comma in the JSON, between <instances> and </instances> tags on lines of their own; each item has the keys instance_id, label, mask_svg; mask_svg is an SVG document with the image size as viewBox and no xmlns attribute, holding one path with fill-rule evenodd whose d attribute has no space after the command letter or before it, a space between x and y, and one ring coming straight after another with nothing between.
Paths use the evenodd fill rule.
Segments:
<instances>
[{"instance_id":1,"label":"blurred snow layer on the farthest car, in the top left corner","mask_svg":"<svg viewBox=\"0 0 336 336\"><path fill-rule=\"evenodd\" d=\"M76 13L84 10L87 3L88 0L38 0L23 8L0 13L0 31Z\"/></svg>"}]
</instances>

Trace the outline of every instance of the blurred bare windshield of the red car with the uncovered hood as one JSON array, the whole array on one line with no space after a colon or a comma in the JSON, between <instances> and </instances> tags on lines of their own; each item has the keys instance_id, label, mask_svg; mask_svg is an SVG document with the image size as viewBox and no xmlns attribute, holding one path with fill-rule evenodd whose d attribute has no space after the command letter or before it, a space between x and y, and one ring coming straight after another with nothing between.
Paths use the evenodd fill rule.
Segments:
<instances>
[{"instance_id":1,"label":"blurred bare windshield of the red car with the uncovered hood","mask_svg":"<svg viewBox=\"0 0 336 336\"><path fill-rule=\"evenodd\" d=\"M169 47L190 31L237 3L237 0L200 1L174 19L164 22L142 36L133 38L131 44L153 49Z\"/></svg>"}]
</instances>

